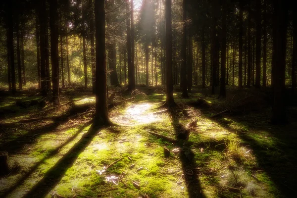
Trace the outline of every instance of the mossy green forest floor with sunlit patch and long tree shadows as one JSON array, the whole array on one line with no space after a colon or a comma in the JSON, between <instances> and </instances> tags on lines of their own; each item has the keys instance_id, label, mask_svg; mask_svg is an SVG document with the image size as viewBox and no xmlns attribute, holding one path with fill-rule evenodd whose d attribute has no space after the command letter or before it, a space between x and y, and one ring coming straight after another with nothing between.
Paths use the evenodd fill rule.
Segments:
<instances>
[{"instance_id":1,"label":"mossy green forest floor with sunlit patch and long tree shadows","mask_svg":"<svg viewBox=\"0 0 297 198\"><path fill-rule=\"evenodd\" d=\"M189 99L175 92L178 106L169 110L158 108L161 87L111 92L110 101L129 100L110 105L117 125L100 129L91 126L91 92L65 89L58 108L35 90L2 92L0 151L10 171L0 197L297 196L296 104L288 106L290 124L274 126L267 90L229 88L220 100L194 87ZM195 119L189 139L176 139Z\"/></svg>"}]
</instances>

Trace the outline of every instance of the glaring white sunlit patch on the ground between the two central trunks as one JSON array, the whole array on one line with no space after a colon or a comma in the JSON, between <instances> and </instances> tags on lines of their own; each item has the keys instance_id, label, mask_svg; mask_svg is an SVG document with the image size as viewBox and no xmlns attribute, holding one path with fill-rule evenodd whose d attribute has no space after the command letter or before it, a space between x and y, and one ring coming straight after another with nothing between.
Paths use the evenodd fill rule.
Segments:
<instances>
[{"instance_id":1,"label":"glaring white sunlit patch on the ground between the two central trunks","mask_svg":"<svg viewBox=\"0 0 297 198\"><path fill-rule=\"evenodd\" d=\"M148 103L131 105L126 109L124 115L113 117L111 120L121 125L130 126L160 121L161 118L158 115L154 115L153 112L148 112L151 106L152 105Z\"/></svg>"}]
</instances>

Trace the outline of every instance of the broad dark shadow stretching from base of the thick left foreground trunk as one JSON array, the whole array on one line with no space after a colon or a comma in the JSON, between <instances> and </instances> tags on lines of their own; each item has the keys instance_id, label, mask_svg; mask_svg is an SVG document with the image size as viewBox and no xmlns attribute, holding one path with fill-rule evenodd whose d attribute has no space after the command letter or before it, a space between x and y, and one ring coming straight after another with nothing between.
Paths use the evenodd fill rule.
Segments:
<instances>
[{"instance_id":1,"label":"broad dark shadow stretching from base of the thick left foreground trunk","mask_svg":"<svg viewBox=\"0 0 297 198\"><path fill-rule=\"evenodd\" d=\"M49 169L43 179L39 181L24 198L43 198L49 194L49 191L59 183L67 169L70 168L77 159L78 155L90 145L94 137L98 134L98 131L99 128L92 125L80 141Z\"/></svg>"}]
</instances>

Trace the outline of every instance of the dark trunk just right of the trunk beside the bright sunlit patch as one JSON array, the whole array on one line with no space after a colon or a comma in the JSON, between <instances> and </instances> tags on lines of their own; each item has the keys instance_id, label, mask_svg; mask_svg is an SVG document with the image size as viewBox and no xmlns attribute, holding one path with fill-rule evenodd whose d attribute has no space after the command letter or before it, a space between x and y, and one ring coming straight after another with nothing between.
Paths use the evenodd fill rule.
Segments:
<instances>
[{"instance_id":1,"label":"dark trunk just right of the trunk beside the bright sunlit patch","mask_svg":"<svg viewBox=\"0 0 297 198\"><path fill-rule=\"evenodd\" d=\"M182 86L182 97L189 98L187 90L187 2L183 0L183 39L182 39L182 73L181 73L181 86ZM167 39L167 38L166 38ZM167 51L166 51L167 54ZM167 60L167 59L166 59Z\"/></svg>"}]
</instances>

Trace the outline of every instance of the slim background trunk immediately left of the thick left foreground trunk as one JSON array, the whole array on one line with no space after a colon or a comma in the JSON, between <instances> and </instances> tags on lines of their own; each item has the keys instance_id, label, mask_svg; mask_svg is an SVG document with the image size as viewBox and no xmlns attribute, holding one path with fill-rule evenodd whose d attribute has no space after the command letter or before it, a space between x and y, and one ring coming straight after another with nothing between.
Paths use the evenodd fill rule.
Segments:
<instances>
[{"instance_id":1,"label":"slim background trunk immediately left of the thick left foreground trunk","mask_svg":"<svg viewBox=\"0 0 297 198\"><path fill-rule=\"evenodd\" d=\"M94 6L93 0L89 0L90 5L90 42L91 42L91 67L92 67L92 93L96 93L96 71L95 71L95 41L94 41Z\"/></svg>"}]
</instances>

